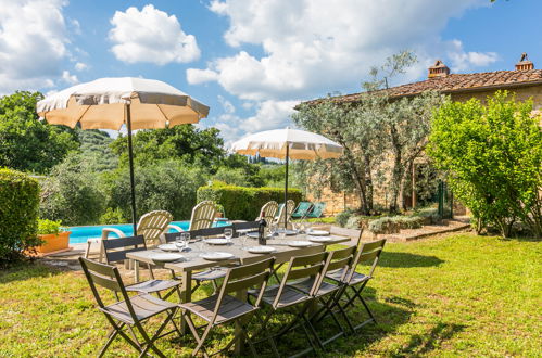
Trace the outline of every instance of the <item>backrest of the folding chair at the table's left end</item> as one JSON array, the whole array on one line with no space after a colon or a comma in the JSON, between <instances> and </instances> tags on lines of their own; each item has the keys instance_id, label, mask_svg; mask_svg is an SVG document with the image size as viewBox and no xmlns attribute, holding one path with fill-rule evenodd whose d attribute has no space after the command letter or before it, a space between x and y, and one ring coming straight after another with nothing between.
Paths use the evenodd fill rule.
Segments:
<instances>
[{"instance_id":1,"label":"backrest of the folding chair at the table's left end","mask_svg":"<svg viewBox=\"0 0 542 358\"><path fill-rule=\"evenodd\" d=\"M118 269L115 266L97 263L84 257L79 257L79 263L83 267L83 271L85 272L85 277L87 278L90 290L92 290L92 294L94 295L94 299L98 305L101 308L105 307L100 292L98 291L98 286L104 287L109 291L113 291L116 297L118 297L118 292L121 292L124 301L126 302L128 311L134 319L136 317L136 315L134 314L134 307L131 307L131 303L129 301L128 294L126 293L126 289L124 287L123 279L118 273Z\"/></svg>"}]
</instances>

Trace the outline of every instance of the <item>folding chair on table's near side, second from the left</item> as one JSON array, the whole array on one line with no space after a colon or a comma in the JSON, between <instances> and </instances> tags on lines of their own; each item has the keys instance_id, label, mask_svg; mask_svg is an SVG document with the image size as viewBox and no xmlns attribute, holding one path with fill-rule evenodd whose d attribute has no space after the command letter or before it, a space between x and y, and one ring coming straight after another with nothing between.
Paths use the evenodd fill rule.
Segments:
<instances>
[{"instance_id":1,"label":"folding chair on table's near side, second from the left","mask_svg":"<svg viewBox=\"0 0 542 358\"><path fill-rule=\"evenodd\" d=\"M261 333L265 333L267 336L266 340L269 342L273 351L277 357L280 357L280 355L275 343L275 337L285 335L298 325L302 327L303 333L305 334L311 348L303 349L295 356L305 355L312 350L316 351L317 349L311 338L311 336L313 338L316 337L316 342L318 342L317 334L306 317L306 311L310 308L310 304L314 299L314 294L317 292L319 283L322 282L322 272L327 255L328 253L322 252L313 255L292 257L288 264L288 268L282 277L282 280L280 281L280 284L267 287L262 296L262 303L270 309L267 316L263 319L262 328L254 334L253 337L260 335ZM310 289L308 293L301 292L288 284L290 281L303 281L307 278L312 278L314 280L313 286ZM249 295L256 297L256 293L254 291L249 291ZM267 331L267 323L269 322L269 319L276 311L287 309L291 309L291 314L294 316L293 319L277 334L269 334Z\"/></svg>"}]
</instances>

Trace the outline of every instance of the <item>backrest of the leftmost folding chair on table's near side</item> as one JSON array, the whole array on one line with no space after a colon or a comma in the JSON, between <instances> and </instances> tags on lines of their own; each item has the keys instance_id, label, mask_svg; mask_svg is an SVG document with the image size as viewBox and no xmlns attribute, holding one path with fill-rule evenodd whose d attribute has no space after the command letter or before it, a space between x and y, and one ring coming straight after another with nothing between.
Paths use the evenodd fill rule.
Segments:
<instances>
[{"instance_id":1,"label":"backrest of the leftmost folding chair on table's near side","mask_svg":"<svg viewBox=\"0 0 542 358\"><path fill-rule=\"evenodd\" d=\"M265 292L265 287L267 286L267 280L272 274L274 264L275 257L269 257L257 263L228 269L220 286L220 292L218 294L218 299L216 301L211 323L216 320L224 297L230 293L249 290L251 287L259 287L259 295L252 305L254 308L259 307Z\"/></svg>"}]
</instances>

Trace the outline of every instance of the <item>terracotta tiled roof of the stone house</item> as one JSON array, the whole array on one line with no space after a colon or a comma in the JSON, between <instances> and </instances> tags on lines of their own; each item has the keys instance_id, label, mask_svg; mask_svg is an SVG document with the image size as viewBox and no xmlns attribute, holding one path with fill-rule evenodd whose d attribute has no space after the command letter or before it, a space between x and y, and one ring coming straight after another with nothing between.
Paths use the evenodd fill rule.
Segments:
<instances>
[{"instance_id":1,"label":"terracotta tiled roof of the stone house","mask_svg":"<svg viewBox=\"0 0 542 358\"><path fill-rule=\"evenodd\" d=\"M542 82L542 69L529 71L495 71L475 74L451 74L446 77L433 77L419 82L406 84L388 89L392 98L415 95L425 91L436 90L443 93L464 92L492 87L525 86ZM355 102L366 92L352 93L331 98L339 103ZM317 99L305 103L318 103Z\"/></svg>"}]
</instances>

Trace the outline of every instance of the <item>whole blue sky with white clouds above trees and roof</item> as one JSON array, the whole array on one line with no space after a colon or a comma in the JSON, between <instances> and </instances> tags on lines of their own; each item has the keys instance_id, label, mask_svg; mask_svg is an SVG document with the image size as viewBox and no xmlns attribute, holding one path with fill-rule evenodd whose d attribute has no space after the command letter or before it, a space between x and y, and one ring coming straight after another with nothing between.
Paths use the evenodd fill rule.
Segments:
<instances>
[{"instance_id":1,"label":"whole blue sky with white clouds above trees and roof","mask_svg":"<svg viewBox=\"0 0 542 358\"><path fill-rule=\"evenodd\" d=\"M360 91L403 49L453 73L542 66L539 0L0 0L0 94L99 77L164 80L211 106L227 142L289 125L292 106ZM396 84L399 84L396 82ZM395 84L395 85L396 85Z\"/></svg>"}]
</instances>

